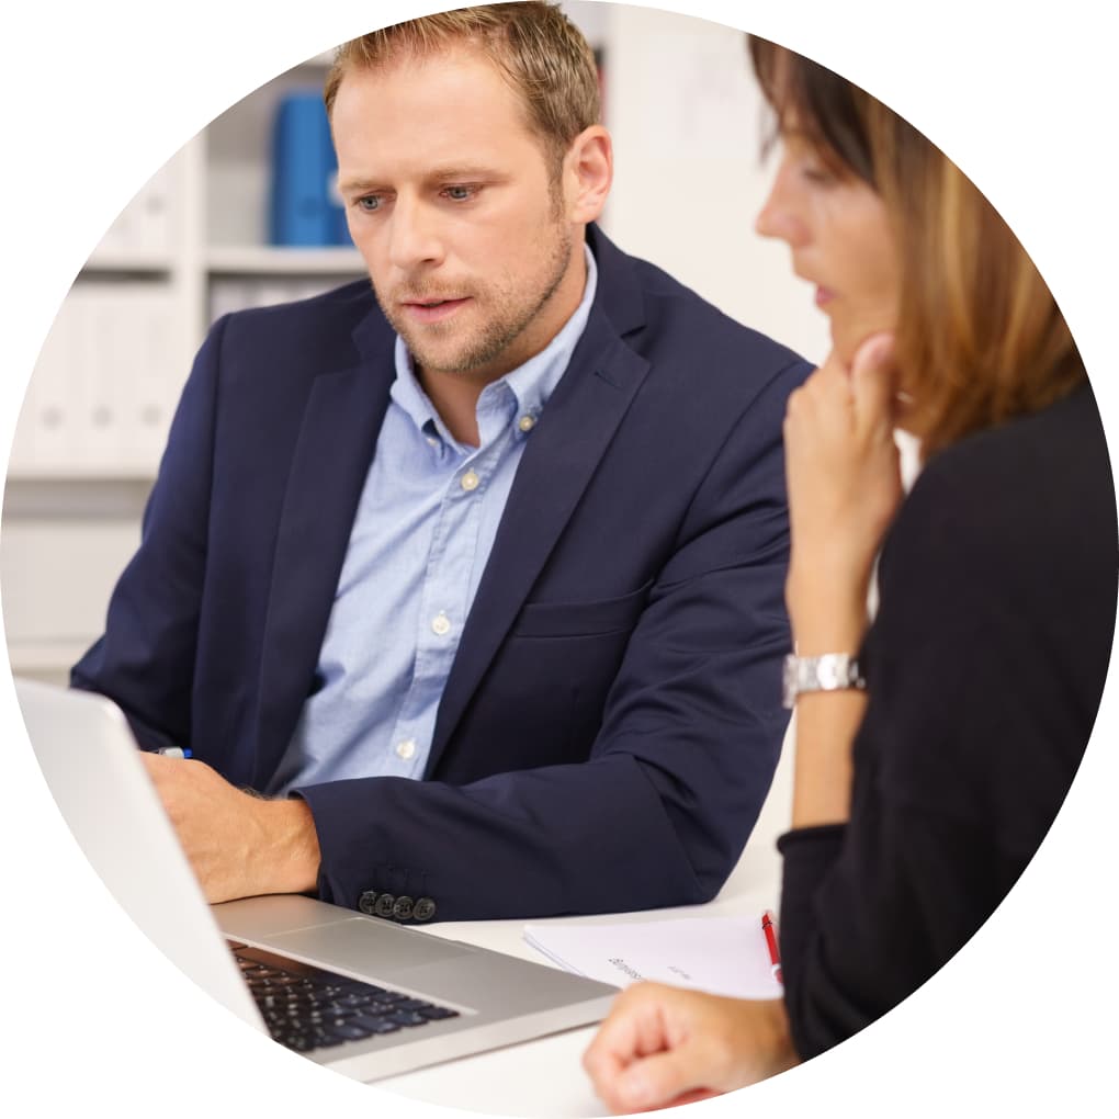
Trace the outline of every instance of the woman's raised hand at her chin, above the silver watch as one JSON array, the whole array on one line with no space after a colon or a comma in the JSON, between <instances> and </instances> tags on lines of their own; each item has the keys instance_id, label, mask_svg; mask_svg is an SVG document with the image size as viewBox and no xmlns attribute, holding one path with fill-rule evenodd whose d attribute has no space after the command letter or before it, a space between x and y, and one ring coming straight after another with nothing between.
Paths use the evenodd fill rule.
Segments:
<instances>
[{"instance_id":1,"label":"woman's raised hand at her chin, above the silver watch","mask_svg":"<svg viewBox=\"0 0 1119 1119\"><path fill-rule=\"evenodd\" d=\"M902 499L894 387L893 338L874 335L850 368L833 354L789 397L786 598L801 656L862 641L874 557Z\"/></svg>"}]
</instances>

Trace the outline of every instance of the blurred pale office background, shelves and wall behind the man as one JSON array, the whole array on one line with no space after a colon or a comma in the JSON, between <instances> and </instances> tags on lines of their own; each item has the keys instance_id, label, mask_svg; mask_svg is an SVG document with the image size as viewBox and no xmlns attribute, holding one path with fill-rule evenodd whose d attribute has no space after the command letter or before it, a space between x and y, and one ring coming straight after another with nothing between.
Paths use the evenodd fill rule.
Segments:
<instances>
[{"instance_id":1,"label":"blurred pale office background, shelves and wall behind the man","mask_svg":"<svg viewBox=\"0 0 1119 1119\"><path fill-rule=\"evenodd\" d=\"M782 245L752 231L770 168L741 31L622 4L563 8L595 48L615 180L602 226L727 314L827 352ZM330 54L214 120L134 196L46 339L8 469L0 586L17 675L65 681L135 549L171 415L209 325L365 275L335 205Z\"/></svg>"}]
</instances>

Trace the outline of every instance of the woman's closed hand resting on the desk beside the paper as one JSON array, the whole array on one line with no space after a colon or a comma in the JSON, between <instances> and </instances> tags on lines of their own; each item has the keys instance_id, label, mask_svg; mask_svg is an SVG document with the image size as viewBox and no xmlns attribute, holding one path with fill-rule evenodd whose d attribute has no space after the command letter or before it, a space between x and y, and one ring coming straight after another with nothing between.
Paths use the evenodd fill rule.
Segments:
<instances>
[{"instance_id":1,"label":"woman's closed hand resting on the desk beside the paper","mask_svg":"<svg viewBox=\"0 0 1119 1119\"><path fill-rule=\"evenodd\" d=\"M594 1090L615 1115L690 1103L796 1063L780 999L650 982L619 995L583 1056Z\"/></svg>"}]
</instances>

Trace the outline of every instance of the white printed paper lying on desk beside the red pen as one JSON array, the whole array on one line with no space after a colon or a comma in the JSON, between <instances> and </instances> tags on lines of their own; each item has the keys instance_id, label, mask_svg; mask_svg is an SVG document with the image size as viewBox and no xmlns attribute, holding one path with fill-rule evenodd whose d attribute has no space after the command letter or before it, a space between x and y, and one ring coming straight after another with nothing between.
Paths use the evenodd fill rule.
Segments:
<instances>
[{"instance_id":1,"label":"white printed paper lying on desk beside the red pen","mask_svg":"<svg viewBox=\"0 0 1119 1119\"><path fill-rule=\"evenodd\" d=\"M525 940L567 971L627 987L641 979L735 998L780 998L754 918L633 924L526 924Z\"/></svg>"}]
</instances>

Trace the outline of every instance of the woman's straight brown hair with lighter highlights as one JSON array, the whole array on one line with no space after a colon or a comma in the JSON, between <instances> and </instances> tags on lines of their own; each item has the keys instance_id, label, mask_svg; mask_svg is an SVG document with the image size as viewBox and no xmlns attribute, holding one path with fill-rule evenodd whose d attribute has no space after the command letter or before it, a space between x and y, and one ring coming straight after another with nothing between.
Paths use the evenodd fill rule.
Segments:
<instances>
[{"instance_id":1,"label":"woman's straight brown hair with lighter highlights","mask_svg":"<svg viewBox=\"0 0 1119 1119\"><path fill-rule=\"evenodd\" d=\"M790 116L837 173L881 195L902 266L895 357L905 426L928 458L969 432L1036 412L1085 378L1052 293L1009 226L924 135L868 93L751 37L779 125Z\"/></svg>"}]
</instances>

